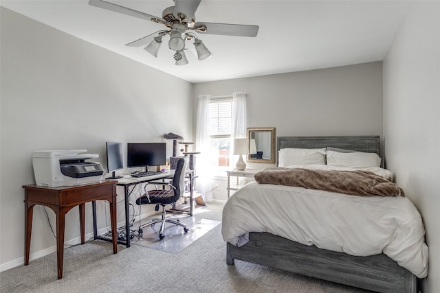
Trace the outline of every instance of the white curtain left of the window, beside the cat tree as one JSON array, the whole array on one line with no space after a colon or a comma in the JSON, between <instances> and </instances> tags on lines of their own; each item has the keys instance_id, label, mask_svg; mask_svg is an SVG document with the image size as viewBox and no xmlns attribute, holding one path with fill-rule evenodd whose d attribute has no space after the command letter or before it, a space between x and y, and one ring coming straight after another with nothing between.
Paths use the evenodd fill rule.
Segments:
<instances>
[{"instance_id":1,"label":"white curtain left of the window, beside the cat tree","mask_svg":"<svg viewBox=\"0 0 440 293\"><path fill-rule=\"evenodd\" d=\"M197 191L199 191L206 200L212 200L212 194L209 191L209 103L210 95L199 95L199 107L197 109L197 128L196 128L196 149L197 154Z\"/></svg>"}]
</instances>

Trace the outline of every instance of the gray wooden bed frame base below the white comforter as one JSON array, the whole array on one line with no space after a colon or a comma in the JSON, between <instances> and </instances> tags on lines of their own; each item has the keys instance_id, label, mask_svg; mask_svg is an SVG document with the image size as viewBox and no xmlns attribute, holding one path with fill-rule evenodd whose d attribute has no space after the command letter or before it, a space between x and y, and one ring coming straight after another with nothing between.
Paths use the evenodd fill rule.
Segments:
<instances>
[{"instance_id":1,"label":"gray wooden bed frame base below the white comforter","mask_svg":"<svg viewBox=\"0 0 440 293\"><path fill-rule=\"evenodd\" d=\"M416 293L417 278L384 254L355 257L307 246L270 233L249 233L241 246L227 243L228 265L234 259L384 293Z\"/></svg>"}]
</instances>

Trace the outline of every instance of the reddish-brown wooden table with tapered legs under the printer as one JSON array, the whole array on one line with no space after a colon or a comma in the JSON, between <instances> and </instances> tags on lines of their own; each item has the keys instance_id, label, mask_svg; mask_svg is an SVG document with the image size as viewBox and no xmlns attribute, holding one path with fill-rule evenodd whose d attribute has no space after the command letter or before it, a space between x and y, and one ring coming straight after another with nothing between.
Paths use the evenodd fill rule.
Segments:
<instances>
[{"instance_id":1,"label":"reddish-brown wooden table with tapered legs under the printer","mask_svg":"<svg viewBox=\"0 0 440 293\"><path fill-rule=\"evenodd\" d=\"M63 278L65 214L79 206L81 244L85 243L85 203L95 200L110 202L111 230L116 231L116 183L103 181L73 187L43 187L24 185L25 189L25 266L29 264L30 237L34 205L50 207L56 214L56 263L58 279ZM95 219L94 219L95 220ZM95 228L95 227L94 227ZM96 232L96 231L95 231ZM118 253L116 234L113 233L113 253Z\"/></svg>"}]
</instances>

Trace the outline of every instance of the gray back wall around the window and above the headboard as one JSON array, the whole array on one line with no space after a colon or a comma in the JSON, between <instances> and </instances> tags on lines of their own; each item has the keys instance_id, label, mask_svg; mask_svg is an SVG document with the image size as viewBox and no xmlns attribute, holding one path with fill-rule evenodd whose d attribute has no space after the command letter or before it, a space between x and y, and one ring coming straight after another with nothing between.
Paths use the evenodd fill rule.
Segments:
<instances>
[{"instance_id":1,"label":"gray back wall around the window and above the headboard","mask_svg":"<svg viewBox=\"0 0 440 293\"><path fill-rule=\"evenodd\" d=\"M198 96L248 94L248 127L275 127L276 136L380 135L382 62L195 84ZM193 125L196 126L197 115ZM195 131L195 128L194 128ZM250 168L270 164L247 163ZM223 174L224 175L224 174ZM225 179L215 177L215 200L226 200Z\"/></svg>"}]
</instances>

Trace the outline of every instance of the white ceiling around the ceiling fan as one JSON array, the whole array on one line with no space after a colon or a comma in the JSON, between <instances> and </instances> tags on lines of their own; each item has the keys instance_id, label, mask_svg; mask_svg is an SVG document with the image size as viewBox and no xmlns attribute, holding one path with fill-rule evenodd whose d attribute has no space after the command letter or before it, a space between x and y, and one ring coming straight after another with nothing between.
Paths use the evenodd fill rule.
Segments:
<instances>
[{"instance_id":1,"label":"white ceiling around the ceiling fan","mask_svg":"<svg viewBox=\"0 0 440 293\"><path fill-rule=\"evenodd\" d=\"M162 17L172 0L108 0ZM166 41L154 58L126 43L164 25L96 8L88 0L1 0L5 8L189 82L207 82L383 60L408 1L202 0L196 21L259 25L256 38L201 35L213 54L176 66ZM193 48L192 43L188 44Z\"/></svg>"}]
</instances>

